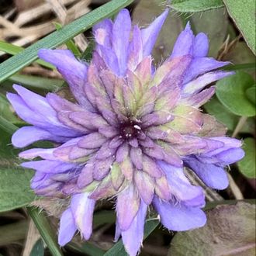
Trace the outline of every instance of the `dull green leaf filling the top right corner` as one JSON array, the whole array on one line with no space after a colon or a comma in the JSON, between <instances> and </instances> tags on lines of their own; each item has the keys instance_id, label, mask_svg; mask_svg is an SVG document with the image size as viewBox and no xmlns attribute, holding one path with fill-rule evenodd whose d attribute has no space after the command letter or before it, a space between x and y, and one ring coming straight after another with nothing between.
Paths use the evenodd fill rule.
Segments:
<instances>
[{"instance_id":1,"label":"dull green leaf filling the top right corner","mask_svg":"<svg viewBox=\"0 0 256 256\"><path fill-rule=\"evenodd\" d=\"M256 30L255 30L255 1L254 0L223 0L227 12L234 19L238 29L244 36L248 47L255 54Z\"/></svg>"}]
</instances>

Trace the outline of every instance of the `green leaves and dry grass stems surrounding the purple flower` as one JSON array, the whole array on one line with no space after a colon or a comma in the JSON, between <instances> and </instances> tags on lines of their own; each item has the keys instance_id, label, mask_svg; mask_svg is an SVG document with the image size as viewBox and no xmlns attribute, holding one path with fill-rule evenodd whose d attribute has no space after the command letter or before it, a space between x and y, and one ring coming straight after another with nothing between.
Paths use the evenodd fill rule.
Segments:
<instances>
[{"instance_id":1,"label":"green leaves and dry grass stems surrounding the purple flower","mask_svg":"<svg viewBox=\"0 0 256 256\"><path fill-rule=\"evenodd\" d=\"M104 3L106 4L103 5ZM152 212L145 225L141 255L254 255L254 0L172 0L171 3L163 0L49 0L47 5L40 0L1 0L1 256L126 254L120 241L116 244L112 242L115 217L109 202L102 202L96 209L94 235L91 240L85 243L77 236L66 247L57 246L57 219L49 214L57 215L61 205L57 206L56 202L51 200L36 198L29 188L33 172L19 167L18 152L10 143L12 133L25 123L13 112L5 94L12 91L12 83L15 82L42 95L52 91L68 98L67 87L54 67L43 61L36 61L38 49L67 47L78 58L89 60L93 49L90 30L93 24L103 18L114 17L119 9L128 6L133 15L133 22L144 26L159 15L166 4L171 7L171 13L154 48L155 63L160 63L168 57L178 33L186 22L190 21L195 33L202 31L208 34L209 55L221 61L231 61L232 64L227 69L236 71L236 74L217 82L216 96L206 103L204 111L227 126L230 137L244 140L246 155L243 160L230 166L228 189L223 192L206 190L208 222L205 227L170 234L160 228ZM77 18L69 12L74 6L77 6L75 12L78 13L81 8L84 8L84 12L79 12L78 16L81 17L72 21ZM38 12L33 22L29 22L28 16L36 13L36 8L48 8L48 11L43 15ZM24 19L27 19L26 22ZM46 27L50 26L50 31L55 31L42 32L41 27L35 26L35 23L47 24ZM25 32L27 34L24 34ZM20 47L24 44L26 49ZM47 213L41 210L42 207L47 209Z\"/></svg>"}]
</instances>

